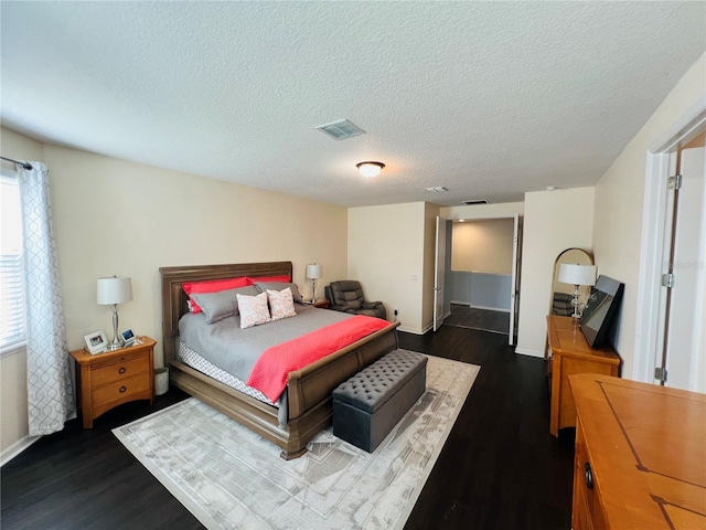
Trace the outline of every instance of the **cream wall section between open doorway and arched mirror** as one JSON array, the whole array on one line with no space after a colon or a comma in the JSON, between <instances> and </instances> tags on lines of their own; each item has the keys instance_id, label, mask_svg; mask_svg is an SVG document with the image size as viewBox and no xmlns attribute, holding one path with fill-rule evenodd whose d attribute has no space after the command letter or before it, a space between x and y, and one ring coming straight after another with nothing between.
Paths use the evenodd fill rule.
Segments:
<instances>
[{"instance_id":1,"label":"cream wall section between open doorway and arched mirror","mask_svg":"<svg viewBox=\"0 0 706 530\"><path fill-rule=\"evenodd\" d=\"M570 247L590 251L593 188L525 193L517 353L544 357L554 261Z\"/></svg>"}]
</instances>

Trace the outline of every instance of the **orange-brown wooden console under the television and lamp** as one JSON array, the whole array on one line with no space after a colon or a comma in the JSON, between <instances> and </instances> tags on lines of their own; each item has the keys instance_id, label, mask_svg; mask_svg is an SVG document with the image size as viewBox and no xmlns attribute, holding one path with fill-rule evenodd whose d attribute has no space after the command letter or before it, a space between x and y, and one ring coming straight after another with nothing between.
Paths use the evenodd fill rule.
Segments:
<instances>
[{"instance_id":1,"label":"orange-brown wooden console under the television and lamp","mask_svg":"<svg viewBox=\"0 0 706 530\"><path fill-rule=\"evenodd\" d=\"M568 375L588 372L618 377L620 358L610 347L588 346L584 331L574 324L571 317L547 317L547 340L552 379L549 432L558 436L559 428L576 425L576 406L569 390Z\"/></svg>"}]
</instances>

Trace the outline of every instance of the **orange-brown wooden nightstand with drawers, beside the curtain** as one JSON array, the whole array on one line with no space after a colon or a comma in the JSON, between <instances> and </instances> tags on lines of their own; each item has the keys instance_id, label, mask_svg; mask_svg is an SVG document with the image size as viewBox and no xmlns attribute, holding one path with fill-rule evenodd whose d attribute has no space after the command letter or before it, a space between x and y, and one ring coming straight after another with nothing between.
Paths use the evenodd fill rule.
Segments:
<instances>
[{"instance_id":1,"label":"orange-brown wooden nightstand with drawers, beside the curtain","mask_svg":"<svg viewBox=\"0 0 706 530\"><path fill-rule=\"evenodd\" d=\"M154 402L154 344L149 337L142 343L105 353L86 350L69 352L76 361L78 406L84 428L110 409L136 400Z\"/></svg>"}]
</instances>

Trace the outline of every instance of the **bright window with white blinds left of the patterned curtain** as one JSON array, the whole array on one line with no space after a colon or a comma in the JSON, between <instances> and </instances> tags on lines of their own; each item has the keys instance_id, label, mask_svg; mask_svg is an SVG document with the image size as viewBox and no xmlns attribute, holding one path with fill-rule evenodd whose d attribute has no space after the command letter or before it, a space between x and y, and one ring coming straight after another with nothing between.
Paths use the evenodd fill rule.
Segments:
<instances>
[{"instance_id":1,"label":"bright window with white blinds left of the patterned curtain","mask_svg":"<svg viewBox=\"0 0 706 530\"><path fill-rule=\"evenodd\" d=\"M17 173L0 172L0 353L25 341L22 211Z\"/></svg>"}]
</instances>

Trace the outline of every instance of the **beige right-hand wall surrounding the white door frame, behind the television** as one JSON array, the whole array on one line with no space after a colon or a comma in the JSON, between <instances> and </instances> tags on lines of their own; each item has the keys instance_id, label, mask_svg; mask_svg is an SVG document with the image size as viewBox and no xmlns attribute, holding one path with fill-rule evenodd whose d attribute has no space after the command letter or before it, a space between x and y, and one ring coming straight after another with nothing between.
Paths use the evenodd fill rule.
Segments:
<instances>
[{"instance_id":1,"label":"beige right-hand wall surrounding the white door frame, behind the television","mask_svg":"<svg viewBox=\"0 0 706 530\"><path fill-rule=\"evenodd\" d=\"M706 95L706 54L672 89L642 129L628 144L596 187L593 254L600 274L625 284L618 320L616 349L622 358L622 377L635 379L638 290L642 221L645 193L646 155Z\"/></svg>"}]
</instances>

